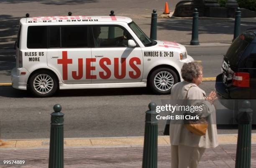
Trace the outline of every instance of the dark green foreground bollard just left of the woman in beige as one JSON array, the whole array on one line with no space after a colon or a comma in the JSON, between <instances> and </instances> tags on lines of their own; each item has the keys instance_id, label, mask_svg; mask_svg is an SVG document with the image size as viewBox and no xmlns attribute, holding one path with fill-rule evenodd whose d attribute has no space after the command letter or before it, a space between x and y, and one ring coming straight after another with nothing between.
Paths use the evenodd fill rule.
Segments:
<instances>
[{"instance_id":1,"label":"dark green foreground bollard just left of the woman in beige","mask_svg":"<svg viewBox=\"0 0 256 168\"><path fill-rule=\"evenodd\" d=\"M146 111L144 147L142 168L157 168L157 130L158 121L156 119L156 104L148 104Z\"/></svg>"}]
</instances>

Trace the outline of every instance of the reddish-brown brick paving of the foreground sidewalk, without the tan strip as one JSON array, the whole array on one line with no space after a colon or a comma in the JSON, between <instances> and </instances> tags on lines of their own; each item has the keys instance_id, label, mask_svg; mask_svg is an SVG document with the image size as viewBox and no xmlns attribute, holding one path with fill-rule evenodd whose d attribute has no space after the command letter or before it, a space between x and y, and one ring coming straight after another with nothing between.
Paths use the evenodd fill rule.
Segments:
<instances>
[{"instance_id":1,"label":"reddish-brown brick paving of the foreground sidewalk, without the tan strip","mask_svg":"<svg viewBox=\"0 0 256 168\"><path fill-rule=\"evenodd\" d=\"M256 144L251 146L251 167L256 167ZM65 148L65 168L141 168L143 147L115 148ZM25 160L22 168L48 168L49 149L1 150L0 160ZM219 145L207 149L202 156L198 168L234 168L236 145ZM158 147L158 167L171 167L170 146Z\"/></svg>"}]
</instances>

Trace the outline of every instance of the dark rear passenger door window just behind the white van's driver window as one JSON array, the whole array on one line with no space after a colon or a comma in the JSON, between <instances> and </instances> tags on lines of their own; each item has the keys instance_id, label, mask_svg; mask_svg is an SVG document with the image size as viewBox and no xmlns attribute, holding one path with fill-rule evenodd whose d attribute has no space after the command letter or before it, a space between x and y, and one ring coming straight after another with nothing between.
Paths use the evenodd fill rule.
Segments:
<instances>
[{"instance_id":1,"label":"dark rear passenger door window just behind the white van's driver window","mask_svg":"<svg viewBox=\"0 0 256 168\"><path fill-rule=\"evenodd\" d=\"M87 26L61 26L61 47L88 47Z\"/></svg>"}]
</instances>

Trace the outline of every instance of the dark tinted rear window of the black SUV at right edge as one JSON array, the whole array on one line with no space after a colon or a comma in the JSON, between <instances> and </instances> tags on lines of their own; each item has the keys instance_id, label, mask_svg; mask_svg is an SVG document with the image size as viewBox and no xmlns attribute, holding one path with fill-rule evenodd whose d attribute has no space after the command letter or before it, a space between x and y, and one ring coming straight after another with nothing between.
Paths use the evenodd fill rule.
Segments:
<instances>
[{"instance_id":1,"label":"dark tinted rear window of the black SUV at right edge","mask_svg":"<svg viewBox=\"0 0 256 168\"><path fill-rule=\"evenodd\" d=\"M248 44L249 42L244 40L244 36L240 35L240 37L236 38L236 40L229 47L227 53L225 54L225 61L230 65L237 66Z\"/></svg>"}]
</instances>

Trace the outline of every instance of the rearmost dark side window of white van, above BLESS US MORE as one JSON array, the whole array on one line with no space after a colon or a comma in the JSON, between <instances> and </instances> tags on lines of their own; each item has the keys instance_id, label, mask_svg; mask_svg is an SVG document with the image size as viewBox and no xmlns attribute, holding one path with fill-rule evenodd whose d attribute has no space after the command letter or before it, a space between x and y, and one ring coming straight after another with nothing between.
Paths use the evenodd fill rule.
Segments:
<instances>
[{"instance_id":1,"label":"rearmost dark side window of white van, above BLESS US MORE","mask_svg":"<svg viewBox=\"0 0 256 168\"><path fill-rule=\"evenodd\" d=\"M28 27L28 48L47 48L47 27L29 26Z\"/></svg>"}]
</instances>

